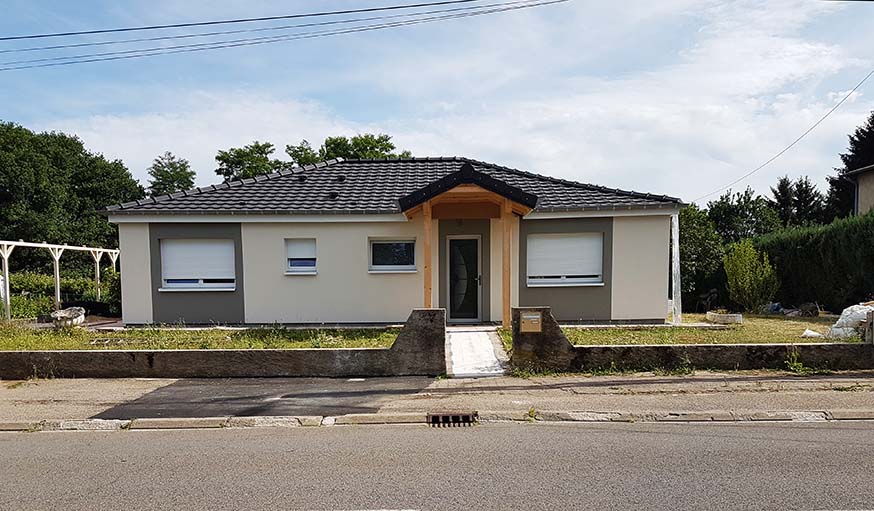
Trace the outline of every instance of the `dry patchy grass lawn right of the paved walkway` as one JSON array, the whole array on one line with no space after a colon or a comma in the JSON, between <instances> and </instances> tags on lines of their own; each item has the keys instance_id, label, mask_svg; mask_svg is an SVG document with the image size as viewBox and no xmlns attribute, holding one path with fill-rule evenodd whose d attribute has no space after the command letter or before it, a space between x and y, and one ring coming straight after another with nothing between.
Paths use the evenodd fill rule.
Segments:
<instances>
[{"instance_id":1,"label":"dry patchy grass lawn right of the paved walkway","mask_svg":"<svg viewBox=\"0 0 874 511\"><path fill-rule=\"evenodd\" d=\"M563 328L567 338L576 345L598 344L758 344L829 342L828 339L802 338L809 328L826 333L836 317L787 318L784 316L744 315L744 323L727 330L695 328ZM703 314L684 314L684 323L703 323ZM504 348L512 348L512 333L499 328ZM846 339L861 342L861 338Z\"/></svg>"}]
</instances>

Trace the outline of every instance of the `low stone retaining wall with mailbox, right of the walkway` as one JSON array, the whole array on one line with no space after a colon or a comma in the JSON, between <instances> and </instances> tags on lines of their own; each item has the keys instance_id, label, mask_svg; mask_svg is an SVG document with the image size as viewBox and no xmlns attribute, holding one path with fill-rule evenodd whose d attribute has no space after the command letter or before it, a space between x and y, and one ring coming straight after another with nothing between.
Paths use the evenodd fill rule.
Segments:
<instances>
[{"instance_id":1,"label":"low stone retaining wall with mailbox, right of the walkway","mask_svg":"<svg viewBox=\"0 0 874 511\"><path fill-rule=\"evenodd\" d=\"M520 314L539 312L540 332L520 332ZM549 307L513 309L514 367L585 372L597 370L786 369L791 353L816 369L874 369L874 345L868 343L660 344L574 346Z\"/></svg>"}]
</instances>

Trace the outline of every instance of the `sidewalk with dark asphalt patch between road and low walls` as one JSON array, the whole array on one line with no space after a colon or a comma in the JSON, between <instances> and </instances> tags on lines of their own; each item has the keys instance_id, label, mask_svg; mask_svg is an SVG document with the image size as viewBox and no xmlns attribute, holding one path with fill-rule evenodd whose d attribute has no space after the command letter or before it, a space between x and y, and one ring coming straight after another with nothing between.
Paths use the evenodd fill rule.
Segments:
<instances>
[{"instance_id":1,"label":"sidewalk with dark asphalt patch between road and low walls","mask_svg":"<svg viewBox=\"0 0 874 511\"><path fill-rule=\"evenodd\" d=\"M428 412L450 411L478 411L486 420L874 419L874 373L0 382L0 423L7 424L252 416L422 422Z\"/></svg>"}]
</instances>

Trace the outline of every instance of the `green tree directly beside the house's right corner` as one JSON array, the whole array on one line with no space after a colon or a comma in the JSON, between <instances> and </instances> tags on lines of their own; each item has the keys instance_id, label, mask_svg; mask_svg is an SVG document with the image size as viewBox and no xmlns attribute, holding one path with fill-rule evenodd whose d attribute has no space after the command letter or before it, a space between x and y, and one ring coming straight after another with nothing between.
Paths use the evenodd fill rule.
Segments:
<instances>
[{"instance_id":1,"label":"green tree directly beside the house's right corner","mask_svg":"<svg viewBox=\"0 0 874 511\"><path fill-rule=\"evenodd\" d=\"M701 291L719 271L722 238L707 212L692 204L680 210L680 274L683 292Z\"/></svg>"}]
</instances>

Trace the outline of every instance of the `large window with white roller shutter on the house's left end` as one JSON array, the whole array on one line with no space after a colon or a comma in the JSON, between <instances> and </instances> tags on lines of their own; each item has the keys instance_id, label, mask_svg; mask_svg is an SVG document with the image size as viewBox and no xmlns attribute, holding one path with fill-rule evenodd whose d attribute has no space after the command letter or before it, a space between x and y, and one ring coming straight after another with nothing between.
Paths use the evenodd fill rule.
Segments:
<instances>
[{"instance_id":1,"label":"large window with white roller shutter on the house's left end","mask_svg":"<svg viewBox=\"0 0 874 511\"><path fill-rule=\"evenodd\" d=\"M160 247L162 290L234 290L234 240L170 239Z\"/></svg>"}]
</instances>

